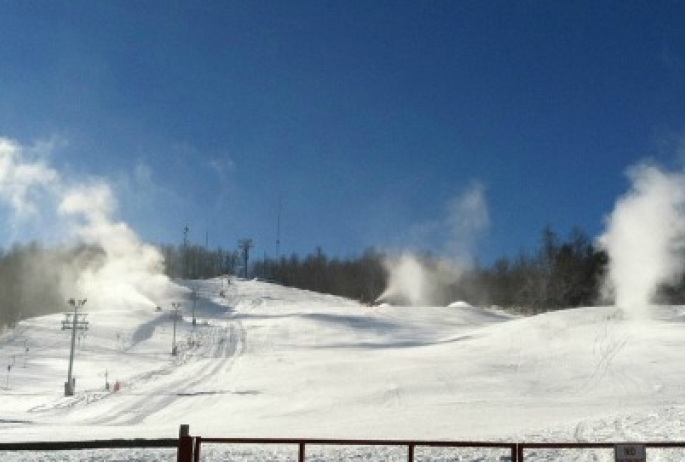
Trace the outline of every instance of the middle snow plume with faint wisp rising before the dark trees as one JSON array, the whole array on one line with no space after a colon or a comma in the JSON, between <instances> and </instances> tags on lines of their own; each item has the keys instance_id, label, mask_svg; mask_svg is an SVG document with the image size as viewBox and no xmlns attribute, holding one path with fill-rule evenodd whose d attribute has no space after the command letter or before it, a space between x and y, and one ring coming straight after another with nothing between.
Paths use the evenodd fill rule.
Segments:
<instances>
[{"instance_id":1,"label":"middle snow plume with faint wisp rising before the dark trees","mask_svg":"<svg viewBox=\"0 0 685 462\"><path fill-rule=\"evenodd\" d=\"M422 258L403 252L385 261L388 282L378 301L411 306L444 304L448 289L471 265L471 253L490 224L485 188L474 182L450 201L443 220L424 226L442 242L442 257Z\"/></svg>"}]
</instances>

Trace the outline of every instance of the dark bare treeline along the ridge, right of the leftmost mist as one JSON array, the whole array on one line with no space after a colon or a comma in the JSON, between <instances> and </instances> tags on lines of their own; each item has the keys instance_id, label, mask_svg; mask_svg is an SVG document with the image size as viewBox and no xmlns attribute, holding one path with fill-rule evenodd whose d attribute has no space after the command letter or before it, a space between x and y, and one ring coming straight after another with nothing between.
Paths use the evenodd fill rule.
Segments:
<instances>
[{"instance_id":1,"label":"dark bare treeline along the ridge, right of the leftmost mist","mask_svg":"<svg viewBox=\"0 0 685 462\"><path fill-rule=\"evenodd\" d=\"M237 250L208 250L199 246L162 246L171 277L207 278L244 275L244 255ZM386 288L389 255L368 249L359 256L329 257L323 249L312 253L251 261L249 276L285 286L339 295L373 303ZM439 259L422 255L427 269ZM582 230L560 237L551 228L541 232L538 246L487 266L476 265L457 282L440 288L441 303L465 300L478 306L500 306L517 312L611 303L603 293L608 256ZM685 303L685 278L659 288L655 302Z\"/></svg>"}]
</instances>

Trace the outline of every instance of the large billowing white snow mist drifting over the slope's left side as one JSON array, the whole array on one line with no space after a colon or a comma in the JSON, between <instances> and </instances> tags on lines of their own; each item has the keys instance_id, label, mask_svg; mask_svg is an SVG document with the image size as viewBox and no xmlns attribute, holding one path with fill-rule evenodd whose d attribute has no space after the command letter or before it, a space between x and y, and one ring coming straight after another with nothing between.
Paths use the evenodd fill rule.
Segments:
<instances>
[{"instance_id":1,"label":"large billowing white snow mist drifting over the slope's left side","mask_svg":"<svg viewBox=\"0 0 685 462\"><path fill-rule=\"evenodd\" d=\"M11 215L15 234L49 221L51 240L102 251L87 262L51 262L74 275L63 281L63 299L88 298L89 308L126 308L155 306L155 299L178 292L163 274L161 254L116 220L117 203L107 181L71 180L49 165L50 151L49 143L26 147L0 138L0 202ZM22 276L27 283L31 277Z\"/></svg>"}]
</instances>

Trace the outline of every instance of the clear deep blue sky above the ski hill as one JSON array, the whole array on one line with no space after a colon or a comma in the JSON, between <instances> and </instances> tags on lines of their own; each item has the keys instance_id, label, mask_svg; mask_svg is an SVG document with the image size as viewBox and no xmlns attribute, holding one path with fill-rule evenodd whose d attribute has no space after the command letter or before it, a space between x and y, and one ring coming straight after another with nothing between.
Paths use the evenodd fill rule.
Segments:
<instances>
[{"instance_id":1,"label":"clear deep blue sky above the ski hill","mask_svg":"<svg viewBox=\"0 0 685 462\"><path fill-rule=\"evenodd\" d=\"M279 198L285 254L439 249L475 181L487 261L595 236L627 167L682 166L684 24L669 1L0 0L0 136L59 140L147 241L259 256Z\"/></svg>"}]
</instances>

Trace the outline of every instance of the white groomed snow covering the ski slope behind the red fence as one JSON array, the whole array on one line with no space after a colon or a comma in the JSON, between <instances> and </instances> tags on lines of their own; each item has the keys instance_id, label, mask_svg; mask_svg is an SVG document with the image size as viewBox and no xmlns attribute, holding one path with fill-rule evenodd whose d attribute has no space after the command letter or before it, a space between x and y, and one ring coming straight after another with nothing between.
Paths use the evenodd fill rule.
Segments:
<instances>
[{"instance_id":1,"label":"white groomed snow covering the ski slope behind the red fence","mask_svg":"<svg viewBox=\"0 0 685 462\"><path fill-rule=\"evenodd\" d=\"M0 337L0 442L203 437L505 442L685 440L685 309L516 317L458 302L368 307L259 281L189 281L200 298L87 306L64 396L64 315ZM180 301L178 355L171 303ZM11 368L8 370L8 366ZM105 389L109 383L109 391ZM115 383L119 388L113 391ZM232 455L227 455L230 449ZM170 450L0 454L0 460L174 460ZM296 448L203 447L205 460L296 460ZM256 452L254 452L256 451ZM432 452L431 452L432 451ZM417 459L508 460L417 450ZM257 454L257 455L256 455ZM319 454L319 456L317 456ZM404 448L308 448L308 460L404 460ZM534 451L526 460L612 460ZM656 451L649 460L685 460Z\"/></svg>"}]
</instances>

